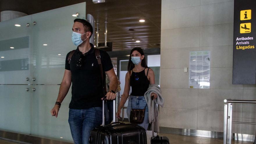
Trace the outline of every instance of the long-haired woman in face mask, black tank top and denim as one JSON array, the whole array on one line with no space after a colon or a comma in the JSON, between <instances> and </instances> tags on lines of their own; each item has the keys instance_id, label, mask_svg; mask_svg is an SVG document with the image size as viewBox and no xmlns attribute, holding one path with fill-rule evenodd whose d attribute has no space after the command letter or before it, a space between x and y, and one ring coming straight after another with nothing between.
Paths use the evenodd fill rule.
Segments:
<instances>
[{"instance_id":1,"label":"long-haired woman in face mask, black tank top and denim","mask_svg":"<svg viewBox=\"0 0 256 144\"><path fill-rule=\"evenodd\" d=\"M145 117L142 124L138 124L147 130L148 127L148 107L145 101L144 94L147 91L150 84L155 83L155 76L152 69L147 67L144 52L140 47L133 48L130 53L128 72L125 76L125 89L120 100L120 105L118 107L117 117L120 118L121 109L124 106L130 92L131 96L128 100L127 115L130 117L131 108L133 109L144 109ZM154 99L157 98L155 93Z\"/></svg>"}]
</instances>

